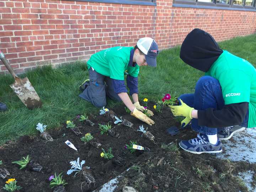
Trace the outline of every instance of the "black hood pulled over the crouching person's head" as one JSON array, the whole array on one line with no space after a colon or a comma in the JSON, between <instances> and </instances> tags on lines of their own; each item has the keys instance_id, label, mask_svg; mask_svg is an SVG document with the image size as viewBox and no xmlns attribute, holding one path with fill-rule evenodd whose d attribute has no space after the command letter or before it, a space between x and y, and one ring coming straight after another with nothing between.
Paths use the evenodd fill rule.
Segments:
<instances>
[{"instance_id":1,"label":"black hood pulled over the crouching person's head","mask_svg":"<svg viewBox=\"0 0 256 192\"><path fill-rule=\"evenodd\" d=\"M193 68L207 72L222 53L223 50L209 33L194 29L181 45L180 58Z\"/></svg>"}]
</instances>

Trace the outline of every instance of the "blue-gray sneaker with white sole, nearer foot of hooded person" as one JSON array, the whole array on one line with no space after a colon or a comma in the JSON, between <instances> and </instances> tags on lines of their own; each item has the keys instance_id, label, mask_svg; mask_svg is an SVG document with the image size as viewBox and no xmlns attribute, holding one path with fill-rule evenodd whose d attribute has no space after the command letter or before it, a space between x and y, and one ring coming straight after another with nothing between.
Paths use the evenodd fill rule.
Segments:
<instances>
[{"instance_id":1,"label":"blue-gray sneaker with white sole, nearer foot of hooded person","mask_svg":"<svg viewBox=\"0 0 256 192\"><path fill-rule=\"evenodd\" d=\"M194 139L181 141L179 145L181 149L194 154L210 153L217 155L222 152L222 144L219 139L215 145L211 144L208 136L202 133L197 134Z\"/></svg>"}]
</instances>

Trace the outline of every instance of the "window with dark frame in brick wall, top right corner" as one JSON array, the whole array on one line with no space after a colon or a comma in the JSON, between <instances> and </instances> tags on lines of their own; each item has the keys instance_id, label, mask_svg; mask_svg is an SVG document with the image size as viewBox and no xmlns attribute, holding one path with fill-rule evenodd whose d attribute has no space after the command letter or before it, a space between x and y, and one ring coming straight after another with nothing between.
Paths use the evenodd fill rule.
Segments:
<instances>
[{"instance_id":1,"label":"window with dark frame in brick wall, top right corner","mask_svg":"<svg viewBox=\"0 0 256 192\"><path fill-rule=\"evenodd\" d=\"M256 0L173 0L174 7L256 11Z\"/></svg>"}]
</instances>

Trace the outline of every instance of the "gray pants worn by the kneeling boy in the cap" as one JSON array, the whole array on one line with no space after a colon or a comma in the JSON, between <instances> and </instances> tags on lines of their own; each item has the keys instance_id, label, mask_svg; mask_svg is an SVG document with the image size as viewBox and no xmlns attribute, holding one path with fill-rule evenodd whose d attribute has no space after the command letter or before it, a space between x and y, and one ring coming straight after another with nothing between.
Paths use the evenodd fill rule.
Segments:
<instances>
[{"instance_id":1,"label":"gray pants worn by the kneeling boy in the cap","mask_svg":"<svg viewBox=\"0 0 256 192\"><path fill-rule=\"evenodd\" d=\"M107 105L106 95L112 100L121 101L121 98L114 92L112 80L104 75L97 73L92 68L89 69L89 79L87 87L79 97L89 101L95 107L103 107ZM106 85L105 85L105 82Z\"/></svg>"}]
</instances>

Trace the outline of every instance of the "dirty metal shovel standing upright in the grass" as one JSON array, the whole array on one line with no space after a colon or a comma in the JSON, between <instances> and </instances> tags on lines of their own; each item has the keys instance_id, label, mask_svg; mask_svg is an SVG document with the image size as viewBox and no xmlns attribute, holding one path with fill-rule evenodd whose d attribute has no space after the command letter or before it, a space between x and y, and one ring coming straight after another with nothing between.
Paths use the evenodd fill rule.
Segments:
<instances>
[{"instance_id":1,"label":"dirty metal shovel standing upright in the grass","mask_svg":"<svg viewBox=\"0 0 256 192\"><path fill-rule=\"evenodd\" d=\"M14 73L14 70L12 69L10 63L7 61L1 50L0 59L6 66L8 71L11 73L11 75L14 77L14 84L11 84L10 87L12 88L12 90L14 90L20 100L26 105L27 108L31 110L33 108L41 107L42 101L37 95L37 92L34 90L31 82L28 80L27 77L21 79Z\"/></svg>"}]
</instances>

